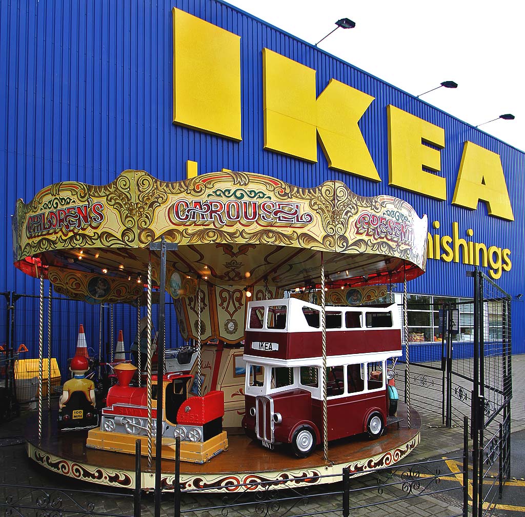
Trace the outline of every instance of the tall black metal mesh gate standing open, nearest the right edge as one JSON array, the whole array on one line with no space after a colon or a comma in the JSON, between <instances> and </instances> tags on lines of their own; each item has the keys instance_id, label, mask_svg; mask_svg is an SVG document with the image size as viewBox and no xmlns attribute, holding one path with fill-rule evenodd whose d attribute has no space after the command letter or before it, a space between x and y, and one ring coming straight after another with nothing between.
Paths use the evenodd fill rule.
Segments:
<instances>
[{"instance_id":1,"label":"tall black metal mesh gate standing open, nearest the right edge","mask_svg":"<svg viewBox=\"0 0 525 517\"><path fill-rule=\"evenodd\" d=\"M485 274L474 277L474 385L472 387L472 517L491 515L500 482L487 483L499 462L500 478L510 478L512 398L511 297Z\"/></svg>"}]
</instances>

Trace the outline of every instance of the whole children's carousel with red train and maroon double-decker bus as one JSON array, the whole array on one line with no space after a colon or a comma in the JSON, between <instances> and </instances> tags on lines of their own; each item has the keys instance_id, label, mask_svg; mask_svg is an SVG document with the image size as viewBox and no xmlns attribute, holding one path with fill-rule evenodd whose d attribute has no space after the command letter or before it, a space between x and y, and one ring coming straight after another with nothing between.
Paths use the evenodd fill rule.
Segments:
<instances>
[{"instance_id":1,"label":"whole children's carousel with red train and maroon double-decker bus","mask_svg":"<svg viewBox=\"0 0 525 517\"><path fill-rule=\"evenodd\" d=\"M17 202L14 225L41 320L46 281L87 303L147 305L146 353L113 361L103 401L85 357L71 360L58 413L44 411L39 379L27 452L47 469L133 488L138 447L142 487L165 487L180 442L186 488L278 487L360 475L418 444L419 416L397 400L407 342L388 296L425 270L426 216L406 202L338 181L306 189L223 170L170 183L128 170L108 185L50 185ZM182 348L165 343L165 291ZM140 311L137 322L140 333Z\"/></svg>"}]
</instances>

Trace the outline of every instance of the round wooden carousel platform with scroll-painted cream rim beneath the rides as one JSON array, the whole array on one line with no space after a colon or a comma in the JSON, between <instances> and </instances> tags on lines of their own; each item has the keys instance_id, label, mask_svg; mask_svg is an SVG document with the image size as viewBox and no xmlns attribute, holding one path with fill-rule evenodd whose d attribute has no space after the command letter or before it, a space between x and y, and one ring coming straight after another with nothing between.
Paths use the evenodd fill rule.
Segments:
<instances>
[{"instance_id":1,"label":"round wooden carousel platform with scroll-painted cream rim beneath the rides","mask_svg":"<svg viewBox=\"0 0 525 517\"><path fill-rule=\"evenodd\" d=\"M419 443L421 418L411 410L411 428L406 423L406 406L400 402L397 416L403 420L387 427L380 439L368 440L364 435L344 438L329 443L328 462L324 462L322 447L310 457L292 457L285 448L274 451L265 449L244 434L228 433L229 449L206 463L181 462L181 483L184 489L202 489L217 492L225 485L260 481L278 482L290 480L294 485L329 483L332 478L319 478L330 474L341 474L349 467L352 476L387 467L403 459ZM51 471L112 487L135 486L135 457L132 454L102 451L86 447L87 431L57 431L56 413L45 414L41 440L33 429L26 436L29 458ZM154 450L154 443L153 443ZM162 485L173 484L175 462L162 460ZM153 489L155 484L155 462L148 465L148 458L142 457L142 488ZM299 479L300 478L300 479ZM270 483L271 484L271 483ZM287 484L287 488L290 483ZM239 490L243 489L240 487ZM253 490L253 487L251 488ZM229 492L233 491L230 487Z\"/></svg>"}]
</instances>

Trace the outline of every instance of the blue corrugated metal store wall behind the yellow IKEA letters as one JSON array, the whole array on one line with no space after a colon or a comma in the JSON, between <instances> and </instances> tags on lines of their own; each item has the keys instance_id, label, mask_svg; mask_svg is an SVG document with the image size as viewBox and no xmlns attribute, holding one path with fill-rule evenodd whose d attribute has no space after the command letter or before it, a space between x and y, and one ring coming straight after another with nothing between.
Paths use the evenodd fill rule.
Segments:
<instances>
[{"instance_id":1,"label":"blue corrugated metal store wall behind the yellow IKEA letters","mask_svg":"<svg viewBox=\"0 0 525 517\"><path fill-rule=\"evenodd\" d=\"M176 6L241 36L243 141L232 142L172 124L172 17ZM310 164L262 150L262 63L267 47L317 70L321 92L333 77L375 97L360 127L382 179L373 183L331 171L322 151ZM12 2L0 0L0 168L2 249L0 291L36 293L37 282L14 270L10 214L15 200L33 198L50 183L112 181L124 169L144 169L164 180L185 178L186 160L199 172L228 168L274 175L313 187L334 178L362 195L388 193L406 199L443 234L457 221L466 237L508 247L512 270L498 283L510 294L525 292L523 180L525 155L321 50L215 0L155 3ZM465 140L501 156L512 200L513 223L388 187L386 108L393 104L445 128L442 174L453 197ZM435 233L435 231L431 231ZM428 273L411 292L471 296L471 266L428 261ZM523 303L513 303L515 352L525 351ZM71 322L75 335L76 321ZM175 339L175 334L172 337Z\"/></svg>"}]
</instances>

